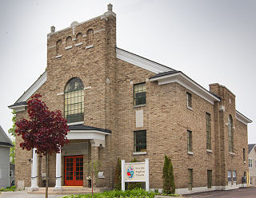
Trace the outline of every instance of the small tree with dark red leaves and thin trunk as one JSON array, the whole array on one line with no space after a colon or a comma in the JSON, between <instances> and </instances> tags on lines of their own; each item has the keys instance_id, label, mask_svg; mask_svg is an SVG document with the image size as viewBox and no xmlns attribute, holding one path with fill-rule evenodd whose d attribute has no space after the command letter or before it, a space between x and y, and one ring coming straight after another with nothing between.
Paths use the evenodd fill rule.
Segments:
<instances>
[{"instance_id":1,"label":"small tree with dark red leaves and thin trunk","mask_svg":"<svg viewBox=\"0 0 256 198\"><path fill-rule=\"evenodd\" d=\"M40 94L34 95L27 102L30 120L22 119L16 122L15 133L22 136L22 149L30 151L37 148L36 152L46 156L46 198L48 197L48 158L53 152L60 152L66 145L67 132L69 131L66 119L62 117L60 110L50 111L46 104L39 98Z\"/></svg>"}]
</instances>

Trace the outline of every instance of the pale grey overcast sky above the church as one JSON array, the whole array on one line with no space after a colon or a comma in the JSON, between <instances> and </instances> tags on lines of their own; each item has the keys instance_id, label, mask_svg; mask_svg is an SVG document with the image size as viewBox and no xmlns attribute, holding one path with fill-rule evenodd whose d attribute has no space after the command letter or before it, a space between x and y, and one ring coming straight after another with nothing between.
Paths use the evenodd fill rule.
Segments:
<instances>
[{"instance_id":1,"label":"pale grey overcast sky above the church","mask_svg":"<svg viewBox=\"0 0 256 198\"><path fill-rule=\"evenodd\" d=\"M181 70L204 88L225 85L236 109L254 122L256 143L256 1L254 0L2 0L0 6L0 125L12 122L8 105L46 69L46 34L106 12L117 14L117 45Z\"/></svg>"}]
</instances>

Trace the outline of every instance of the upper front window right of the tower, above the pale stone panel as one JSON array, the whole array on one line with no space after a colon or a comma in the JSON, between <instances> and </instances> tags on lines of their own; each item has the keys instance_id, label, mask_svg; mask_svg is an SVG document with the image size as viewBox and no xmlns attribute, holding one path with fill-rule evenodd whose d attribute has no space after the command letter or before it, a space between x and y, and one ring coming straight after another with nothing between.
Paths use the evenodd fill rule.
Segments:
<instances>
[{"instance_id":1,"label":"upper front window right of the tower, above the pale stone panel","mask_svg":"<svg viewBox=\"0 0 256 198\"><path fill-rule=\"evenodd\" d=\"M134 106L146 104L146 83L134 85Z\"/></svg>"}]
</instances>

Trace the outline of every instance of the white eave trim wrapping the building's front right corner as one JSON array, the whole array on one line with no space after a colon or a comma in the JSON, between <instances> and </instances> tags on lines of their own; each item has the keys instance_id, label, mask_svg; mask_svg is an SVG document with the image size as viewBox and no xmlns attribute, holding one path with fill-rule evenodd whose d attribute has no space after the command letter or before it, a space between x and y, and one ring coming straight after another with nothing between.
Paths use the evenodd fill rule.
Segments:
<instances>
[{"instance_id":1,"label":"white eave trim wrapping the building's front right corner","mask_svg":"<svg viewBox=\"0 0 256 198\"><path fill-rule=\"evenodd\" d=\"M184 86L186 89L189 89L191 92L196 93L199 97L209 101L212 105L214 105L214 101L220 101L218 97L215 97L206 89L203 89L202 86L192 81L189 77L186 77L186 75L183 73L172 73L162 77L154 77L151 78L150 81L158 81L158 85L177 82L178 84Z\"/></svg>"}]
</instances>

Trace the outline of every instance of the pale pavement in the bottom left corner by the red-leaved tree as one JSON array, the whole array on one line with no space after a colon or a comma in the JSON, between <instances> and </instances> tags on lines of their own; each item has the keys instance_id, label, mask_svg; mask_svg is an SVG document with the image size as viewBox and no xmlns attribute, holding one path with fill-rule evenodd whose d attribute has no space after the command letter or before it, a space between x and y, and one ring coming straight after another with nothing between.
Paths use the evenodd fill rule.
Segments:
<instances>
[{"instance_id":1,"label":"pale pavement in the bottom left corner by the red-leaved tree","mask_svg":"<svg viewBox=\"0 0 256 198\"><path fill-rule=\"evenodd\" d=\"M35 194L27 194L26 191L16 191L16 192L1 192L0 198L45 198L46 195L35 195ZM60 198L60 195L49 195L49 198Z\"/></svg>"}]
</instances>

